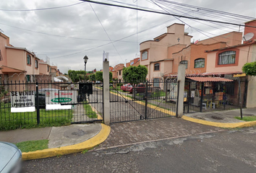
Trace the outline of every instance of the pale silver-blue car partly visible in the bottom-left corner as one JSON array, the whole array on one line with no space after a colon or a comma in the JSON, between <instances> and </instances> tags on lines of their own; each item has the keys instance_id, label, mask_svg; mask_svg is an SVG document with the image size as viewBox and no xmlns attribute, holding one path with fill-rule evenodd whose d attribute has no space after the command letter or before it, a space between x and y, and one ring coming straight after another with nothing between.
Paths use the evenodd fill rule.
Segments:
<instances>
[{"instance_id":1,"label":"pale silver-blue car partly visible in the bottom-left corner","mask_svg":"<svg viewBox=\"0 0 256 173\"><path fill-rule=\"evenodd\" d=\"M20 172L22 152L13 143L0 141L0 172Z\"/></svg>"}]
</instances>

